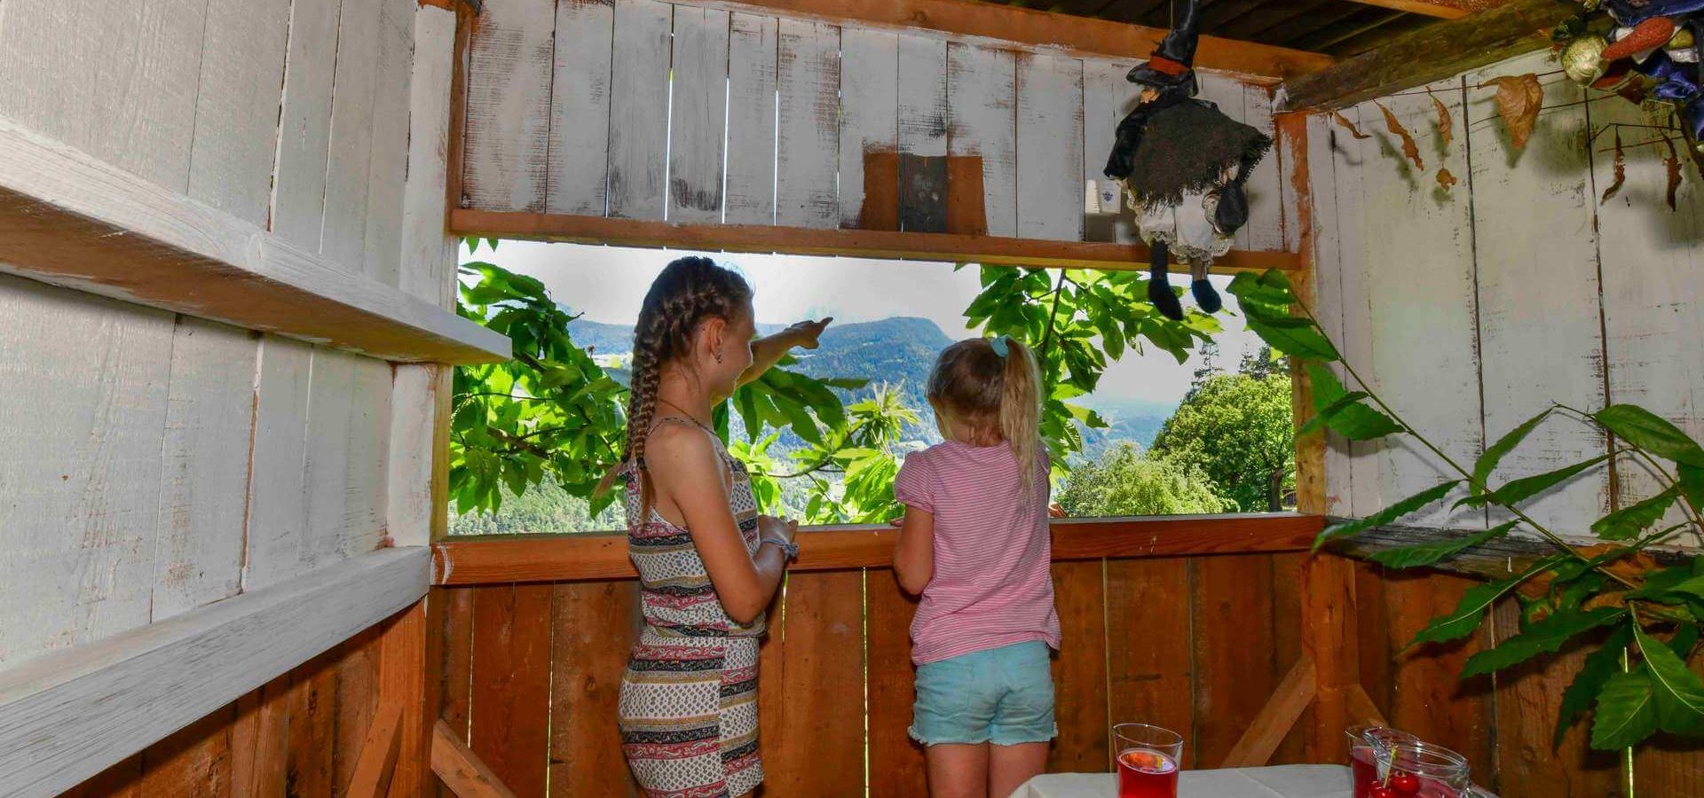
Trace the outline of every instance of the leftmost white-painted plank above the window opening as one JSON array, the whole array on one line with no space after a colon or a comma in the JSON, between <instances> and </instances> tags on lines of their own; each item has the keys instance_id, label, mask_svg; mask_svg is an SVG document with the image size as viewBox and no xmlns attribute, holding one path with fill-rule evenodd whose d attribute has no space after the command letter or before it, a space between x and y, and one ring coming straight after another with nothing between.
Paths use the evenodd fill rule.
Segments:
<instances>
[{"instance_id":1,"label":"leftmost white-painted plank above the window opening","mask_svg":"<svg viewBox=\"0 0 1704 798\"><path fill-rule=\"evenodd\" d=\"M486 211L544 211L556 9L491 3L467 60L462 202Z\"/></svg>"}]
</instances>

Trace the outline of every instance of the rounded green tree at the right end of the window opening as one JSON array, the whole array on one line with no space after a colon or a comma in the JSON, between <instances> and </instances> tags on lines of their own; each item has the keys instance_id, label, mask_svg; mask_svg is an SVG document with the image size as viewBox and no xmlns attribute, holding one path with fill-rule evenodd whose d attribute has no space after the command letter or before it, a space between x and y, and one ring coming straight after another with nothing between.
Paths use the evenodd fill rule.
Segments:
<instances>
[{"instance_id":1,"label":"rounded green tree at the right end of the window opening","mask_svg":"<svg viewBox=\"0 0 1704 798\"><path fill-rule=\"evenodd\" d=\"M1290 378L1208 376L1154 439L1152 454L1206 473L1242 510L1280 510L1295 483Z\"/></svg>"}]
</instances>

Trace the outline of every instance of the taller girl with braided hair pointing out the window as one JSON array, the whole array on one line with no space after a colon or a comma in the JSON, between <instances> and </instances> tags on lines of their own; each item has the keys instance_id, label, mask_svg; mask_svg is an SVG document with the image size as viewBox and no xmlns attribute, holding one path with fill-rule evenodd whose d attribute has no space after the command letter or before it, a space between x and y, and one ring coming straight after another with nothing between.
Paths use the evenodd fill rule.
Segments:
<instances>
[{"instance_id":1,"label":"taller girl with braided hair pointing out the window","mask_svg":"<svg viewBox=\"0 0 1704 798\"><path fill-rule=\"evenodd\" d=\"M705 257L668 264L634 327L627 550L644 631L622 675L622 752L651 798L733 798L763 781L757 647L763 607L797 555L796 521L758 516L711 412L828 325L757 339L751 288Z\"/></svg>"}]
</instances>

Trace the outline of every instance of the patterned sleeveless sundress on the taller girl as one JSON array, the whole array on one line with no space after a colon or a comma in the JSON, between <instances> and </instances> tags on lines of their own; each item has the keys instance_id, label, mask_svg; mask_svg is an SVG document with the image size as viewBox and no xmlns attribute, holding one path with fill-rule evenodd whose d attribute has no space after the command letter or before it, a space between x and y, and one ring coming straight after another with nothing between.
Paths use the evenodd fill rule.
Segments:
<instances>
[{"instance_id":1,"label":"patterned sleeveless sundress on the taller girl","mask_svg":"<svg viewBox=\"0 0 1704 798\"><path fill-rule=\"evenodd\" d=\"M663 417L659 424L699 424ZM705 430L709 434L709 430ZM762 539L745 465L711 434L728 466L728 509L753 555ZM692 534L653 507L641 517L627 471L627 551L639 570L644 631L622 674L622 752L651 798L729 798L763 783L757 752L757 648L763 616L722 611Z\"/></svg>"}]
</instances>

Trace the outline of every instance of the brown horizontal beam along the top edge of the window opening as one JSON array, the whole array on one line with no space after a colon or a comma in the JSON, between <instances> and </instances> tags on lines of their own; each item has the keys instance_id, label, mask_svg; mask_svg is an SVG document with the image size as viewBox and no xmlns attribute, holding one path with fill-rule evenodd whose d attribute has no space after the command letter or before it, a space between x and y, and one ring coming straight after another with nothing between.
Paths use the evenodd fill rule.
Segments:
<instances>
[{"instance_id":1,"label":"brown horizontal beam along the top edge of the window opening","mask_svg":"<svg viewBox=\"0 0 1704 798\"><path fill-rule=\"evenodd\" d=\"M1135 243L1045 242L992 235L901 233L889 230L806 230L762 225L673 225L518 211L450 211L450 230L465 237L535 242L668 247L707 252L845 255L891 260L946 260L983 265L1046 265L1063 269L1147 269L1148 248ZM1232 250L1213 272L1293 271L1290 252Z\"/></svg>"}]
</instances>

